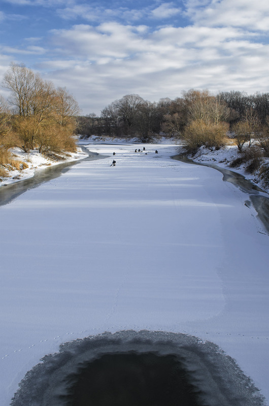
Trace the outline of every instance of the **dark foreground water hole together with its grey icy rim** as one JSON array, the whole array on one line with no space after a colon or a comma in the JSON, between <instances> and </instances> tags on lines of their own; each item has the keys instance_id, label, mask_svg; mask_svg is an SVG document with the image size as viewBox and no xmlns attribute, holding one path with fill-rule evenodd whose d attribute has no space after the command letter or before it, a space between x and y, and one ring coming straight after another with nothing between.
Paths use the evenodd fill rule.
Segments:
<instances>
[{"instance_id":1,"label":"dark foreground water hole together with its grey icy rim","mask_svg":"<svg viewBox=\"0 0 269 406\"><path fill-rule=\"evenodd\" d=\"M86 397L76 398L85 385ZM129 403L131 391L140 396L141 388L144 398ZM157 392L162 403L150 400ZM80 406L85 400L121 406L122 399L133 406L173 406L184 396L190 406L265 405L251 379L217 345L181 333L129 330L62 344L58 353L46 355L28 371L11 406Z\"/></svg>"}]
</instances>

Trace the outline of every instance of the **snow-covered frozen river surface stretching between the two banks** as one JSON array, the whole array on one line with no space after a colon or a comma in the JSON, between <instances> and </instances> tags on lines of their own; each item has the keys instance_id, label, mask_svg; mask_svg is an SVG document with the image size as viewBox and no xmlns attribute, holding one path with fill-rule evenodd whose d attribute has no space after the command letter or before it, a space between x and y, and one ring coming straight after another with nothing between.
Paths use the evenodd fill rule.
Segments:
<instances>
[{"instance_id":1,"label":"snow-covered frozen river surface stretching between the two banks","mask_svg":"<svg viewBox=\"0 0 269 406\"><path fill-rule=\"evenodd\" d=\"M248 195L175 146L135 148L91 145L109 158L0 208L3 406L59 344L127 330L214 343L269 399L269 237Z\"/></svg>"}]
</instances>

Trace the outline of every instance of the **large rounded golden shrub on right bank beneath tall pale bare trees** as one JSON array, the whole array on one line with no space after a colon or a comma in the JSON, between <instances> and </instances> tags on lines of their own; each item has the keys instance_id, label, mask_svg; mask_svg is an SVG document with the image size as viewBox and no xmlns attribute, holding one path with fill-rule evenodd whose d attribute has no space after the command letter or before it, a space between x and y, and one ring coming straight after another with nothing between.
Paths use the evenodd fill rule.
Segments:
<instances>
[{"instance_id":1,"label":"large rounded golden shrub on right bank beneath tall pale bare trees","mask_svg":"<svg viewBox=\"0 0 269 406\"><path fill-rule=\"evenodd\" d=\"M226 133L228 124L220 122L214 124L204 120L194 120L188 124L183 132L183 139L191 150L195 150L202 145L210 149L219 149L226 144Z\"/></svg>"}]
</instances>

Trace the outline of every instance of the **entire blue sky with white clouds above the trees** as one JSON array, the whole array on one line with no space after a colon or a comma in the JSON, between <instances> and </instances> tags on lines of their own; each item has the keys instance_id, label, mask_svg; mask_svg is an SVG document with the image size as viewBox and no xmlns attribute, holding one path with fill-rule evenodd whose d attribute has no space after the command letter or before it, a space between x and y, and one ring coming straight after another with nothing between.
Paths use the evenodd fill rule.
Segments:
<instances>
[{"instance_id":1,"label":"entire blue sky with white clouds above the trees","mask_svg":"<svg viewBox=\"0 0 269 406\"><path fill-rule=\"evenodd\" d=\"M97 115L131 93L268 92L268 29L268 0L0 0L0 81L24 63Z\"/></svg>"}]
</instances>

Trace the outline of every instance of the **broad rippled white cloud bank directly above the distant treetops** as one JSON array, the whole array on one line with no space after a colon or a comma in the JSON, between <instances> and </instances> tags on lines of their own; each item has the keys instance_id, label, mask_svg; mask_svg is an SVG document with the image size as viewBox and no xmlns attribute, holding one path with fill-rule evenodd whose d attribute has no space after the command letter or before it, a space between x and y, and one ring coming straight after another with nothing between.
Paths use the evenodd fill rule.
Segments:
<instances>
[{"instance_id":1,"label":"broad rippled white cloud bank directly above the distant treetops","mask_svg":"<svg viewBox=\"0 0 269 406\"><path fill-rule=\"evenodd\" d=\"M238 28L195 25L151 33L145 26L107 22L53 30L51 41L57 61L40 67L57 85L70 88L85 113L98 114L127 93L154 101L189 88L269 90L261 81L269 46L251 42Z\"/></svg>"}]
</instances>

